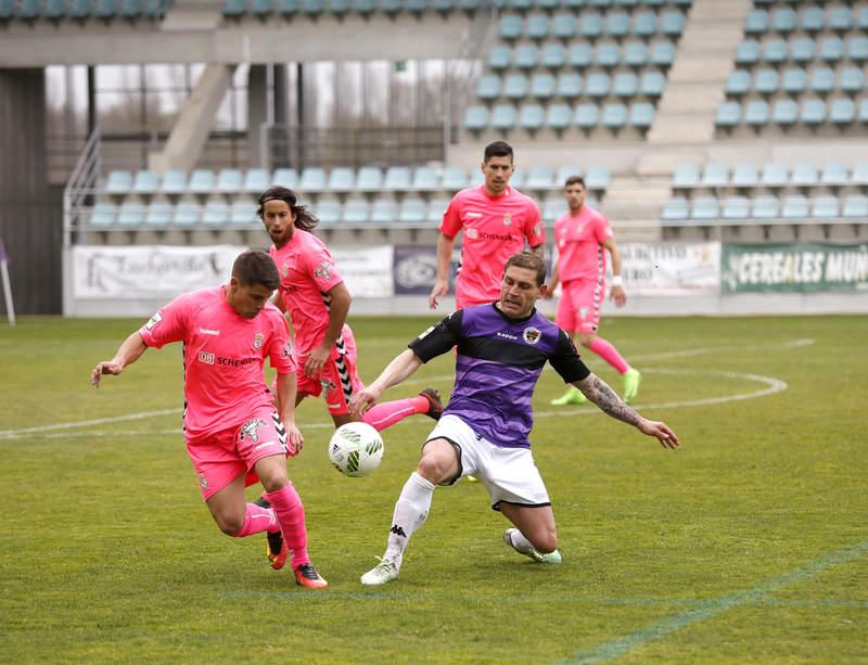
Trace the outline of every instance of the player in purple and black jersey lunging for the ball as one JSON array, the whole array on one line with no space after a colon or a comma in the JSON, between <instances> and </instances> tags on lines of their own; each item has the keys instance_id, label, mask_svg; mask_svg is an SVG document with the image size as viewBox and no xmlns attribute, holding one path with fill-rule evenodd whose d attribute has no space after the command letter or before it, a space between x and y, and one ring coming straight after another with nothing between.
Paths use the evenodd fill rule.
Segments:
<instances>
[{"instance_id":1,"label":"player in purple and black jersey lunging for the ball","mask_svg":"<svg viewBox=\"0 0 868 665\"><path fill-rule=\"evenodd\" d=\"M656 437L664 448L678 446L669 427L639 415L595 376L570 336L536 310L537 298L547 291L545 279L546 265L537 255L511 256L497 303L449 315L353 396L350 408L363 413L423 362L458 347L449 404L395 503L385 554L361 576L362 585L397 578L407 542L427 517L434 488L470 474L484 483L492 508L514 525L503 533L507 545L539 563L560 563L554 514L528 440L531 398L547 360L603 412Z\"/></svg>"}]
</instances>

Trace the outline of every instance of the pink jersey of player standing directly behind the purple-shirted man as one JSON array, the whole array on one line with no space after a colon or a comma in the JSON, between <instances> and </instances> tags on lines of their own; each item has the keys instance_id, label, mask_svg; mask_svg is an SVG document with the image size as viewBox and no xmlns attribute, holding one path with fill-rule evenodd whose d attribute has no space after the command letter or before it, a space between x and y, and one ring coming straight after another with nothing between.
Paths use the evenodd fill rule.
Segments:
<instances>
[{"instance_id":1,"label":"pink jersey of player standing directly behind the purple-shirted man","mask_svg":"<svg viewBox=\"0 0 868 665\"><path fill-rule=\"evenodd\" d=\"M533 199L507 188L492 197L485 184L461 190L443 214L441 231L450 238L463 229L461 270L455 293L459 307L490 303L500 296L503 265L513 254L546 241Z\"/></svg>"}]
</instances>

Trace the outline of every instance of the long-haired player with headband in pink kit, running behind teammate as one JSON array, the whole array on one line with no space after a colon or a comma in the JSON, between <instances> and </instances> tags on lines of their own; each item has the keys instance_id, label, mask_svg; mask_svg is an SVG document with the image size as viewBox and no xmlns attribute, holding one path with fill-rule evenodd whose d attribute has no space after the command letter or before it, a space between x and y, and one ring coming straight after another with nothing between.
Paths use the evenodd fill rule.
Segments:
<instances>
[{"instance_id":1,"label":"long-haired player with headband in pink kit, running behind teammate","mask_svg":"<svg viewBox=\"0 0 868 665\"><path fill-rule=\"evenodd\" d=\"M269 250L280 271L275 304L290 315L298 374L296 405L308 395L323 395L335 427L360 420L347 404L365 386L358 375L356 340L346 324L352 296L331 253L310 231L317 218L299 205L295 193L272 187L259 196L257 215L275 243ZM365 422L382 431L417 413L434 420L443 411L439 395L425 388L416 397L379 405Z\"/></svg>"}]
</instances>

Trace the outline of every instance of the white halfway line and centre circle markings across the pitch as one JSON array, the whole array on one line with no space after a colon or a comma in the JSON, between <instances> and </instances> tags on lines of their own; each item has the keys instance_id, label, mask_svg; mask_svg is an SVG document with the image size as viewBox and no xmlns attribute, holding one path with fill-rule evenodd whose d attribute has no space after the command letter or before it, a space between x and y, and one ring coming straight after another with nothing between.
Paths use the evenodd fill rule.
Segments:
<instances>
[{"instance_id":1,"label":"white halfway line and centre circle markings across the pitch","mask_svg":"<svg viewBox=\"0 0 868 665\"><path fill-rule=\"evenodd\" d=\"M812 338L801 338L801 340L792 340L790 342L784 342L783 344L775 345L774 348L797 348L801 346L809 346L814 344L814 340ZM636 356L636 358L640 360L652 360L652 359L664 359L664 358L685 358L690 356L699 356L702 354L710 354L710 353L717 353L717 351L725 351L725 350L735 350L735 349L744 349L744 348L763 348L766 345L757 345L751 347L735 347L735 346L707 346L707 347L698 347L698 348L687 348L681 349L679 351L668 351L663 354L649 354L646 356ZM692 373L697 374L698 372L691 372L690 370L671 370L671 369L642 369L643 372L648 373L658 373L658 374L686 374ZM671 401L671 402L662 402L662 404L648 404L648 405L640 405L643 409L668 409L668 408L682 408L682 407L694 407L694 406L707 406L712 404L723 404L726 401L735 401L739 399L755 399L758 397L765 397L767 395L774 395L775 393L779 393L781 391L787 389L787 383L780 381L779 379L774 379L771 376L761 376L758 374L746 374L740 372L702 372L702 374L709 373L716 373L722 376L726 376L729 379L748 379L751 381L756 381L760 383L767 384L767 388L754 393L743 393L738 395L726 395L724 397L709 397L705 399L694 399L689 401ZM403 385L419 385L423 383L431 383L434 381L452 381L455 379L454 375L449 374L448 376L427 376L427 378L416 378L405 381ZM128 413L126 415L113 415L110 418L94 418L91 420L81 420L81 421L74 421L74 422L64 422L64 423L55 423L51 425L38 425L34 427L18 427L16 430L0 430L0 440L2 439L14 439L20 438L22 435L27 434L39 434L43 432L56 432L56 431L64 431L64 430L73 430L73 429L81 429L81 427L90 427L92 425L105 425L111 423L117 422L126 422L130 420L144 420L148 418L156 418L159 415L173 415L179 414L181 409L174 408L174 409L157 409L155 411L140 411L139 413ZM534 414L535 418L550 418L552 415L579 415L579 414L593 414L597 411L590 411L588 409L563 409L558 411L539 411ZM332 423L309 423L305 425L305 429L320 429L320 427L332 427ZM163 431L156 432L156 434L165 434L165 433L179 433L180 430L177 431ZM155 434L155 432L151 431L150 434ZM105 433L91 433L94 436L103 436ZM120 435L120 434L137 434L136 432L115 432L112 433L113 435ZM47 437L53 438L53 437Z\"/></svg>"}]
</instances>

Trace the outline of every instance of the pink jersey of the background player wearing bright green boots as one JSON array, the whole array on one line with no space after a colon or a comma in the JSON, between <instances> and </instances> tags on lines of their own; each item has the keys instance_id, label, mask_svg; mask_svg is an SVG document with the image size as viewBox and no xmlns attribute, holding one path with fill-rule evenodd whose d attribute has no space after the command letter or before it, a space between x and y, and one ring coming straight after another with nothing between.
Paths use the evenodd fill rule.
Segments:
<instances>
[{"instance_id":1,"label":"pink jersey of the background player wearing bright green boots","mask_svg":"<svg viewBox=\"0 0 868 665\"><path fill-rule=\"evenodd\" d=\"M612 238L609 220L593 208L583 205L578 215L569 212L554 222L558 243L558 279L602 280L605 277L605 248Z\"/></svg>"}]
</instances>

